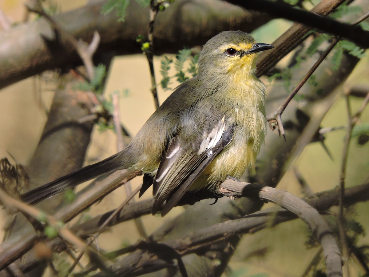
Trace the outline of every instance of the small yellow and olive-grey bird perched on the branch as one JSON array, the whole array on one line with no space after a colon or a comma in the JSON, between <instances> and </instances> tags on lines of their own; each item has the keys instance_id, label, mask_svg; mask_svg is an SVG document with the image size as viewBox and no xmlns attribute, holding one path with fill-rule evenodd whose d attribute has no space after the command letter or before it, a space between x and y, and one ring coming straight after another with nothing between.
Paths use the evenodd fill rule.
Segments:
<instances>
[{"instance_id":1,"label":"small yellow and olive-grey bird perched on the branch","mask_svg":"<svg viewBox=\"0 0 369 277\"><path fill-rule=\"evenodd\" d=\"M198 74L179 85L119 153L23 195L29 204L119 169L144 173L152 214L166 215L186 191L215 189L254 168L266 133L265 86L257 53L273 48L242 31L224 31L203 47Z\"/></svg>"}]
</instances>

